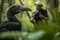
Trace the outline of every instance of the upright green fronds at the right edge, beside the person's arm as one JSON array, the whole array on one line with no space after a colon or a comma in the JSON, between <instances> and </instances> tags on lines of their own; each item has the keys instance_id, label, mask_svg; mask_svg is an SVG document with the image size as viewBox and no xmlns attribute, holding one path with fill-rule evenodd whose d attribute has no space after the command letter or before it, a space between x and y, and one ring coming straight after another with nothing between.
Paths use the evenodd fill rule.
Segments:
<instances>
[{"instance_id":1,"label":"upright green fronds at the right edge, beside the person's arm","mask_svg":"<svg viewBox=\"0 0 60 40\"><path fill-rule=\"evenodd\" d=\"M54 19L54 23L56 23L58 29L60 29L60 12L58 11L58 8L54 8L54 9L49 9L53 19Z\"/></svg>"}]
</instances>

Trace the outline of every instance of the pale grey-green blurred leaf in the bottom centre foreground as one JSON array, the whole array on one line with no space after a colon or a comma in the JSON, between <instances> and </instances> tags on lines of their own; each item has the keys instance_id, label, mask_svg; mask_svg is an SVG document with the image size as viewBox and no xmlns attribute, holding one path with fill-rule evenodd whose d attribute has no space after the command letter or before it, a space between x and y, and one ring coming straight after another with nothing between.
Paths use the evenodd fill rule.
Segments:
<instances>
[{"instance_id":1,"label":"pale grey-green blurred leaf in the bottom centre foreground","mask_svg":"<svg viewBox=\"0 0 60 40\"><path fill-rule=\"evenodd\" d=\"M43 30L34 32L34 33L28 33L27 36L23 38L23 40L38 40L39 38L43 37L45 32Z\"/></svg>"}]
</instances>

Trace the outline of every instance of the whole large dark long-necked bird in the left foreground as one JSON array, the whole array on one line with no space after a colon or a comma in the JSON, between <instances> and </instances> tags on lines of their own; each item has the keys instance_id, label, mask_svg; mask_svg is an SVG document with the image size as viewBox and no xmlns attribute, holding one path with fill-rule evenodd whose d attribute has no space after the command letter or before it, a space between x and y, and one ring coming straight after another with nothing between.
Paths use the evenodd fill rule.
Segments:
<instances>
[{"instance_id":1,"label":"whole large dark long-necked bird in the left foreground","mask_svg":"<svg viewBox=\"0 0 60 40\"><path fill-rule=\"evenodd\" d=\"M7 19L8 22L0 24L0 32L4 31L21 31L22 24L17 20L15 17L16 14L23 12L23 11L31 11L31 9L20 6L20 5L12 5L7 10Z\"/></svg>"}]
</instances>

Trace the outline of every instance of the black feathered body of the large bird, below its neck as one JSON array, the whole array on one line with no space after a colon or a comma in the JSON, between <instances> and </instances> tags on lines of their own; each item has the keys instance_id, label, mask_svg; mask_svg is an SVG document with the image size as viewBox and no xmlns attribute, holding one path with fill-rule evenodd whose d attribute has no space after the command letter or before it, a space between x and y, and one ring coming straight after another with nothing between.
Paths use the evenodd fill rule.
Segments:
<instances>
[{"instance_id":1,"label":"black feathered body of the large bird, below its neck","mask_svg":"<svg viewBox=\"0 0 60 40\"><path fill-rule=\"evenodd\" d=\"M7 22L1 25L0 32L2 31L21 31L21 24L18 22Z\"/></svg>"}]
</instances>

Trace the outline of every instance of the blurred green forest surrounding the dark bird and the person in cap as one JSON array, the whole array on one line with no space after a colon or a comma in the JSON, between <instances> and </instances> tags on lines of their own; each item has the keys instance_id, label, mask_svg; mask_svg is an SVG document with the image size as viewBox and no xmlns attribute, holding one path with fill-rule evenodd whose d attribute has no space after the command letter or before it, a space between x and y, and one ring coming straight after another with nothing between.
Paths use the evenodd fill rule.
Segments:
<instances>
[{"instance_id":1,"label":"blurred green forest surrounding the dark bird and the person in cap","mask_svg":"<svg viewBox=\"0 0 60 40\"><path fill-rule=\"evenodd\" d=\"M34 3L37 0L21 0L25 6L35 11ZM15 38L15 40L60 40L60 0L39 0L43 8L48 10L49 22L40 23L34 29L28 14L17 14L16 17L21 21L23 28L21 32L8 32L0 34L0 38ZM0 0L0 23L7 21L6 9L12 4L22 5L20 0ZM29 12L30 16L32 12Z\"/></svg>"}]
</instances>

